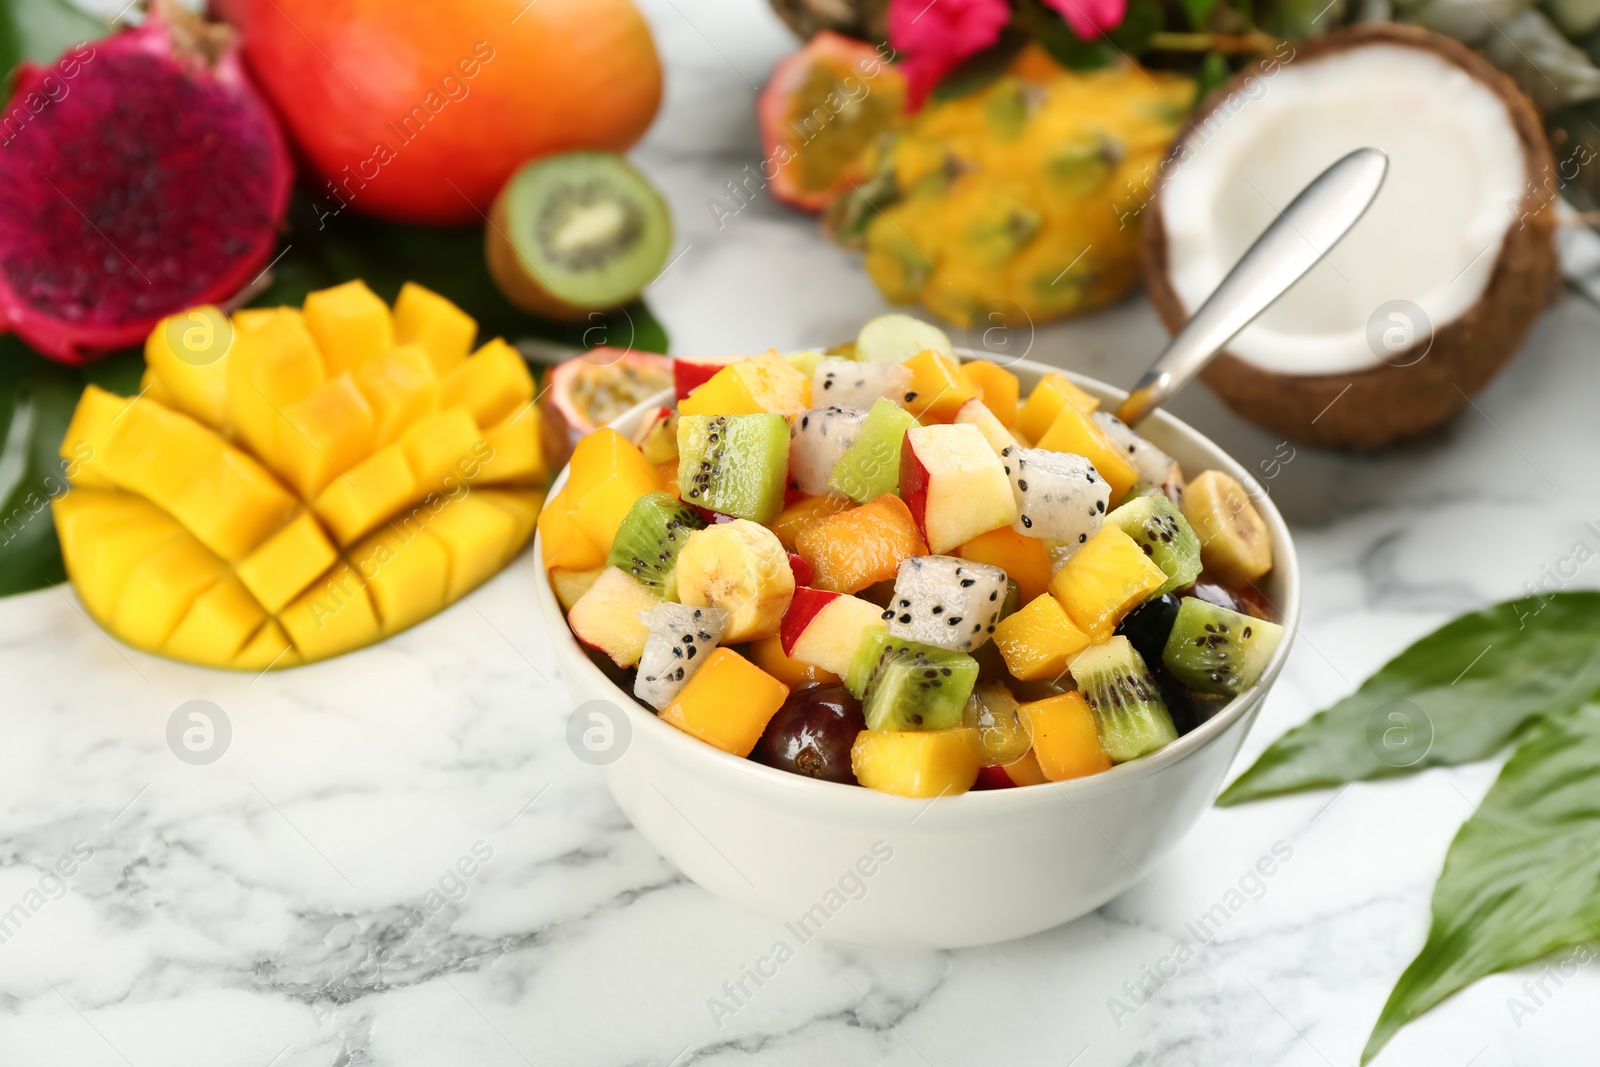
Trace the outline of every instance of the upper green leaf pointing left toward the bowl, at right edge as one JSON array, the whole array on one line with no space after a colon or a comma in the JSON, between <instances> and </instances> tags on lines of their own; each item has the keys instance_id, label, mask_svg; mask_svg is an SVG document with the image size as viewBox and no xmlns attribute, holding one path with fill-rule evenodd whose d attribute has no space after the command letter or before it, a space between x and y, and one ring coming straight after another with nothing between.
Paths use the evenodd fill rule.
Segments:
<instances>
[{"instance_id":1,"label":"upper green leaf pointing left toward the bowl, at right edge","mask_svg":"<svg viewBox=\"0 0 1600 1067\"><path fill-rule=\"evenodd\" d=\"M1528 597L1445 624L1296 726L1219 805L1486 760L1600 689L1600 592Z\"/></svg>"}]
</instances>

